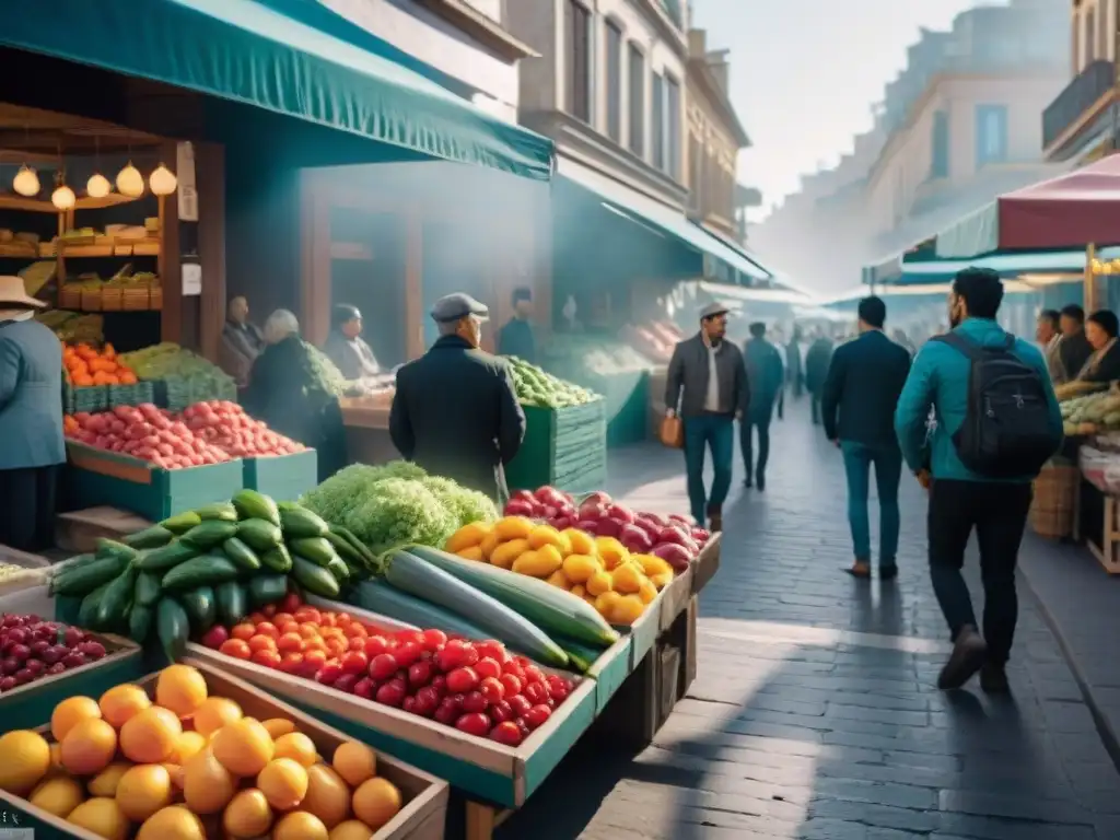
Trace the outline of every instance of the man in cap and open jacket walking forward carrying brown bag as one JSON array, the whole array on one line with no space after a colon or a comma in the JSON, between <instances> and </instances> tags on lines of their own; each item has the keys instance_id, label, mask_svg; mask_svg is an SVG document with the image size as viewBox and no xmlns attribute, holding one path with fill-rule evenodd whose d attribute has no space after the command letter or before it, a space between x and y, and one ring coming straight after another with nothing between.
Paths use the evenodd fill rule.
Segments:
<instances>
[{"instance_id":1,"label":"man in cap and open jacket walking forward carrying brown bag","mask_svg":"<svg viewBox=\"0 0 1120 840\"><path fill-rule=\"evenodd\" d=\"M743 354L727 334L727 307L709 304L700 312L700 332L673 348L665 386L670 416L684 423L684 468L689 504L697 522L724 530L724 502L731 486L735 419L747 407L747 375ZM703 486L704 450L711 450L712 482Z\"/></svg>"}]
</instances>

